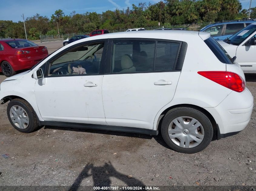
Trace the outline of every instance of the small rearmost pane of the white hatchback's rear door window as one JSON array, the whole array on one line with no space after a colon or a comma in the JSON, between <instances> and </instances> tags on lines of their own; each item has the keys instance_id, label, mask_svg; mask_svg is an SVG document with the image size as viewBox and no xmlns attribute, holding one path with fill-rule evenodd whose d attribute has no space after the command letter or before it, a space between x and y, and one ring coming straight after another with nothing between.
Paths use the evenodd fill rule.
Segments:
<instances>
[{"instance_id":1,"label":"small rearmost pane of the white hatchback's rear door window","mask_svg":"<svg viewBox=\"0 0 256 191\"><path fill-rule=\"evenodd\" d=\"M179 45L179 43L157 42L155 71L173 69Z\"/></svg>"}]
</instances>

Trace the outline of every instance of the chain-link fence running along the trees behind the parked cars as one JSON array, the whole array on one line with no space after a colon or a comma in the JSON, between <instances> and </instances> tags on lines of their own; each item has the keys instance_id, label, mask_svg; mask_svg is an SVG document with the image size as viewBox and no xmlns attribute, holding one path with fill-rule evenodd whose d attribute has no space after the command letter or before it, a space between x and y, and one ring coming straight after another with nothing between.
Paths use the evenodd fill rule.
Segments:
<instances>
[{"instance_id":1,"label":"chain-link fence running along the trees behind the parked cars","mask_svg":"<svg viewBox=\"0 0 256 191\"><path fill-rule=\"evenodd\" d=\"M158 27L145 27L145 30L154 30L158 28L185 28L185 30L200 30L201 28L207 26L208 24L212 24L213 22L208 23L195 23L195 24L182 24L182 25L167 25L167 26L158 26ZM121 30L108 30L109 33L117 33L117 32L124 32L127 29L121 29ZM72 33L72 34L60 34L60 35L40 35L40 41L47 42L47 41L56 41L56 40L66 40L70 39L71 37L77 36L77 35L89 35L91 32L85 32L85 33Z\"/></svg>"}]
</instances>

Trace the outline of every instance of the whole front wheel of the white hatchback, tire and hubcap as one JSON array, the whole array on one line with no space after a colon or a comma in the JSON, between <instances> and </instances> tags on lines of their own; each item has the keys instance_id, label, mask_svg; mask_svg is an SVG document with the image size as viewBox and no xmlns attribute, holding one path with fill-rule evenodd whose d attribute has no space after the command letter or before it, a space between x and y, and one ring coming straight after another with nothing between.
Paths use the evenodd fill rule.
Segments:
<instances>
[{"instance_id":1,"label":"whole front wheel of the white hatchback, tire and hubcap","mask_svg":"<svg viewBox=\"0 0 256 191\"><path fill-rule=\"evenodd\" d=\"M12 126L23 133L38 128L38 120L32 106L25 100L14 99L7 106L7 116Z\"/></svg>"}]
</instances>

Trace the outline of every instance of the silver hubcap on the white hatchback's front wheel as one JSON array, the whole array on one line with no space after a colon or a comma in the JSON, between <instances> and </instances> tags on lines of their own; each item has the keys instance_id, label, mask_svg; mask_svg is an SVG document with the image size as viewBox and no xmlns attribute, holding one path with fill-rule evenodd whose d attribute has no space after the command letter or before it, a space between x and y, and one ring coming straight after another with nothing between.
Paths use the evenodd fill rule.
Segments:
<instances>
[{"instance_id":1,"label":"silver hubcap on the white hatchback's front wheel","mask_svg":"<svg viewBox=\"0 0 256 191\"><path fill-rule=\"evenodd\" d=\"M12 123L16 127L20 129L26 129L28 127L28 124L29 124L28 115L22 107L18 105L12 106L10 109L10 117L11 117Z\"/></svg>"}]
</instances>

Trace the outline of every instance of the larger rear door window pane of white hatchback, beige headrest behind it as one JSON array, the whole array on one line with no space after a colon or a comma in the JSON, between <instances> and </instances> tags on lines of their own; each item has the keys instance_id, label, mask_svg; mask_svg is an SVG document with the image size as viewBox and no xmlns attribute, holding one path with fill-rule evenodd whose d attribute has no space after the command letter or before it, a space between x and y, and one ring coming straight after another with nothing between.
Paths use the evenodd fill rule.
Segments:
<instances>
[{"instance_id":1,"label":"larger rear door window pane of white hatchback, beige headrest behind it","mask_svg":"<svg viewBox=\"0 0 256 191\"><path fill-rule=\"evenodd\" d=\"M154 49L155 41L114 41L111 71L114 73L153 71Z\"/></svg>"}]
</instances>

